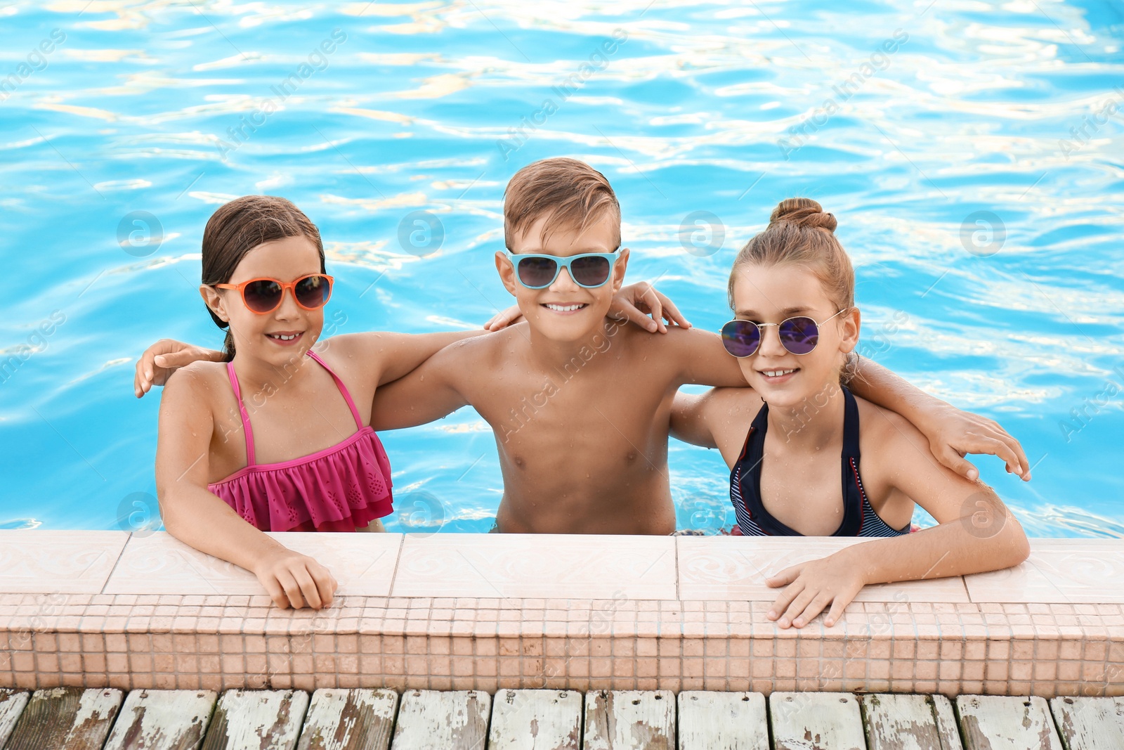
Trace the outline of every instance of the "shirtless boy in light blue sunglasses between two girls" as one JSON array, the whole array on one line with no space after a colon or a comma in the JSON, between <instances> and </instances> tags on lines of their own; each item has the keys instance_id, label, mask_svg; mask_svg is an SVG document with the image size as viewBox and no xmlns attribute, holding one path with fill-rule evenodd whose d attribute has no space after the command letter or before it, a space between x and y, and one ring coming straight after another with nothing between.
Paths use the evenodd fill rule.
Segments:
<instances>
[{"instance_id":1,"label":"shirtless boy in light blue sunglasses between two girls","mask_svg":"<svg viewBox=\"0 0 1124 750\"><path fill-rule=\"evenodd\" d=\"M716 334L669 326L651 335L606 316L628 250L616 195L588 164L549 159L522 169L504 223L508 250L496 253L496 269L525 319L446 346L381 387L371 425L407 427L475 407L499 450L498 531L672 533L672 400L685 383L744 387L736 360ZM985 450L1026 466L1006 433L1001 448L980 441L988 421L872 362L862 360L858 374L856 391L917 424L939 457Z\"/></svg>"}]
</instances>

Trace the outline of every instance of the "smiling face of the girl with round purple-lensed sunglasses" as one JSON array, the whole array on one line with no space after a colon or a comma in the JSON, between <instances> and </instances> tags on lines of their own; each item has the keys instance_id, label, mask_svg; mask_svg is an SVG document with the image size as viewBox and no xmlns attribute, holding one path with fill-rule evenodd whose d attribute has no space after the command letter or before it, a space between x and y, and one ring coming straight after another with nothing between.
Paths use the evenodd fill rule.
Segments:
<instances>
[{"instance_id":1,"label":"smiling face of the girl with round purple-lensed sunglasses","mask_svg":"<svg viewBox=\"0 0 1124 750\"><path fill-rule=\"evenodd\" d=\"M762 328L761 344L740 359L746 382L770 406L797 406L831 382L846 353L859 341L859 309L835 315L839 307L807 268L794 264L746 263L737 271L733 289L734 316L754 323L781 323L807 316L819 327L819 342L807 354L792 354L780 343L774 325ZM831 318L831 319L828 319Z\"/></svg>"}]
</instances>

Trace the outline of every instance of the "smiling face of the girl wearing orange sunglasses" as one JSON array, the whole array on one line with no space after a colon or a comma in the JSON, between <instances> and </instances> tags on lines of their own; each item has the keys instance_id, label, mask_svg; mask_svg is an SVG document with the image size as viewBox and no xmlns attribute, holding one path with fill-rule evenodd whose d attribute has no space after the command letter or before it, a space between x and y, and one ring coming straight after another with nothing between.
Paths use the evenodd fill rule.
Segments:
<instances>
[{"instance_id":1,"label":"smiling face of the girl wearing orange sunglasses","mask_svg":"<svg viewBox=\"0 0 1124 750\"><path fill-rule=\"evenodd\" d=\"M283 237L257 245L243 256L227 283L271 278L294 281L309 273L320 273L320 255L305 236ZM307 310L287 289L281 305L272 313L259 314L246 307L236 289L199 288L203 301L230 324L239 355L248 355L282 367L311 349L324 328L324 308Z\"/></svg>"}]
</instances>

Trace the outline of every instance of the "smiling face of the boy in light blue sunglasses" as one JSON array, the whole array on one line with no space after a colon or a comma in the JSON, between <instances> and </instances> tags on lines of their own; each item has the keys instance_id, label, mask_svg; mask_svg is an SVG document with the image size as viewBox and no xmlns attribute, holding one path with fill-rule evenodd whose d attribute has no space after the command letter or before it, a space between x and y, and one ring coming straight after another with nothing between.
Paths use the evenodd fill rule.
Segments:
<instances>
[{"instance_id":1,"label":"smiling face of the boy in light blue sunglasses","mask_svg":"<svg viewBox=\"0 0 1124 750\"><path fill-rule=\"evenodd\" d=\"M582 253L613 253L617 246L619 222L610 211L605 211L596 222L590 222L584 232L578 228L555 229L545 242L543 227L550 215L542 216L524 232L511 237L511 252L518 254L541 253L569 257ZM528 289L515 278L515 268L502 253L496 253L496 269L531 327L546 338L558 342L581 341L591 332L599 331L609 311L613 295L624 282L628 250L622 249L613 265L609 280L596 288L581 287L574 282L566 269L559 271L554 282L544 289Z\"/></svg>"}]
</instances>

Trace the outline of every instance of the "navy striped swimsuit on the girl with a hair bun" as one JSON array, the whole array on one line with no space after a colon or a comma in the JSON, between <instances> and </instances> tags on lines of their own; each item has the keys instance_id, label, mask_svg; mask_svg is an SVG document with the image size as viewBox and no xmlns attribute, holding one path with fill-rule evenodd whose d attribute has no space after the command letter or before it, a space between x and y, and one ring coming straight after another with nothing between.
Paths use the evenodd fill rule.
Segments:
<instances>
[{"instance_id":1,"label":"navy striped swimsuit on the girl with a hair bun","mask_svg":"<svg viewBox=\"0 0 1124 750\"><path fill-rule=\"evenodd\" d=\"M909 533L891 528L882 521L862 488L859 477L859 405L846 388L843 416L843 522L832 536L900 536ZM772 517L761 503L761 459L769 426L769 405L762 404L754 417L742 454L729 472L729 499L737 514L737 526L745 536L803 536Z\"/></svg>"}]
</instances>

